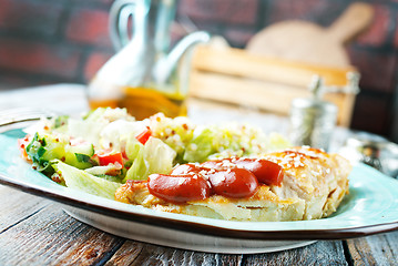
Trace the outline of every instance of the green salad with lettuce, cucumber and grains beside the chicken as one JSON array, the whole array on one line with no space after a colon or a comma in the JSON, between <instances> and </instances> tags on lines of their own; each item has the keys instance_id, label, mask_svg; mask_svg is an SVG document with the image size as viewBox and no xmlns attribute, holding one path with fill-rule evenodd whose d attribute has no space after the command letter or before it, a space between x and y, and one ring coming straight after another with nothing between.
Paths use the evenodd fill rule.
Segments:
<instances>
[{"instance_id":1,"label":"green salad with lettuce, cucumber and grains beside the chicken","mask_svg":"<svg viewBox=\"0 0 398 266\"><path fill-rule=\"evenodd\" d=\"M196 125L162 113L136 121L125 109L96 109L76 119L43 119L19 140L32 167L54 182L112 198L127 180L169 174L175 165L262 156L287 147L278 134L237 123Z\"/></svg>"}]
</instances>

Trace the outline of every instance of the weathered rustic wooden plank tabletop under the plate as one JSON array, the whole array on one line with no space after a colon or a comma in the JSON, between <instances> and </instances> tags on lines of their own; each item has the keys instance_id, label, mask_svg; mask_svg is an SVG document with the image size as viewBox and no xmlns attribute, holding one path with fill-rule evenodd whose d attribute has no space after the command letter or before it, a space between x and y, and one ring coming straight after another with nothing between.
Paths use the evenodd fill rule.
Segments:
<instances>
[{"instance_id":1,"label":"weathered rustic wooden plank tabletop under the plate","mask_svg":"<svg viewBox=\"0 0 398 266\"><path fill-rule=\"evenodd\" d=\"M0 93L0 110L88 106L81 86L69 84ZM69 101L69 103L68 103ZM193 114L198 115L196 114ZM200 115L198 115L200 116ZM197 117L198 119L198 117ZM279 127L285 125L280 124ZM60 204L0 185L0 265L397 265L398 232L315 244L276 253L213 254L157 246L114 236L83 224Z\"/></svg>"}]
</instances>

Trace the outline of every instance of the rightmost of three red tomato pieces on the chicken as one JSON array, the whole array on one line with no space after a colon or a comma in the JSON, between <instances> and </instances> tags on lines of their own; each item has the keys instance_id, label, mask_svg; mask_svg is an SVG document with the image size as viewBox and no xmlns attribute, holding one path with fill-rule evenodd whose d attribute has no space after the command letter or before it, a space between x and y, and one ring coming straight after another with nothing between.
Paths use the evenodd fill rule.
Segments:
<instances>
[{"instance_id":1,"label":"rightmost of three red tomato pieces on the chicken","mask_svg":"<svg viewBox=\"0 0 398 266\"><path fill-rule=\"evenodd\" d=\"M279 186L284 178L283 167L268 160L239 158L234 163L238 167L251 171L257 177L258 182L266 185Z\"/></svg>"}]
</instances>

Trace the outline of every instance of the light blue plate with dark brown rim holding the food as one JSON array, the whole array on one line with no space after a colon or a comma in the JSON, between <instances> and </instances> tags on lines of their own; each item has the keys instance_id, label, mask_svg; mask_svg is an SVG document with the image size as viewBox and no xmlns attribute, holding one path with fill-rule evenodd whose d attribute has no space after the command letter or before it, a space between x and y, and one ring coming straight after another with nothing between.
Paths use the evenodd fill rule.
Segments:
<instances>
[{"instance_id":1,"label":"light blue plate with dark brown rim holding the food","mask_svg":"<svg viewBox=\"0 0 398 266\"><path fill-rule=\"evenodd\" d=\"M366 165L349 176L350 193L330 217L297 222L231 222L127 205L63 187L19 154L20 130L0 134L0 183L61 203L68 214L102 231L153 244L212 253L264 253L317 239L341 239L398 228L398 181Z\"/></svg>"}]
</instances>

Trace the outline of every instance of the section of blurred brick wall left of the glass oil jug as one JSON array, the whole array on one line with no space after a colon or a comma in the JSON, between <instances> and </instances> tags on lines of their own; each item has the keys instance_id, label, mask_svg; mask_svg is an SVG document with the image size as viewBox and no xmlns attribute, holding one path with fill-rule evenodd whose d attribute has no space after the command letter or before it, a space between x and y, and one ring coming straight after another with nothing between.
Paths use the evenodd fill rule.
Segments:
<instances>
[{"instance_id":1,"label":"section of blurred brick wall left of the glass oil jug","mask_svg":"<svg viewBox=\"0 0 398 266\"><path fill-rule=\"evenodd\" d=\"M112 0L0 0L2 88L85 83L113 49Z\"/></svg>"}]
</instances>

